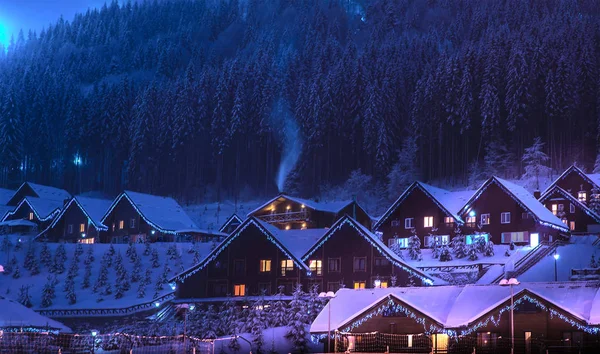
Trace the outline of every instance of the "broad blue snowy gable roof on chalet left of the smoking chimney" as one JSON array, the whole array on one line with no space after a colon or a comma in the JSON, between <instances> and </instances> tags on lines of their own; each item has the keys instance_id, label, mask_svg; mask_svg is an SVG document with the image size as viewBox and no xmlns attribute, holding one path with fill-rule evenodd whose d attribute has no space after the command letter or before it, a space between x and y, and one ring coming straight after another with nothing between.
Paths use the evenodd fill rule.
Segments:
<instances>
[{"instance_id":1,"label":"broad blue snowy gable roof on chalet left of the smoking chimney","mask_svg":"<svg viewBox=\"0 0 600 354\"><path fill-rule=\"evenodd\" d=\"M123 199L134 207L145 222L160 232L175 233L179 230L198 228L175 199L132 191L124 191L115 199L102 217L101 223L104 223Z\"/></svg>"}]
</instances>

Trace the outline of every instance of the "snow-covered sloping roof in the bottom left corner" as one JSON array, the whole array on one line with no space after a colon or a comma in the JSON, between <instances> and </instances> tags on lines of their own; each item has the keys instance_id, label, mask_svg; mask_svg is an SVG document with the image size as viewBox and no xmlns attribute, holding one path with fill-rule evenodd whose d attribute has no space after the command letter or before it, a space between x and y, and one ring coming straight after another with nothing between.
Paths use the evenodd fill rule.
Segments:
<instances>
[{"instance_id":1,"label":"snow-covered sloping roof in the bottom left corner","mask_svg":"<svg viewBox=\"0 0 600 354\"><path fill-rule=\"evenodd\" d=\"M32 327L48 328L70 333L71 329L62 323L42 316L20 303L0 296L0 328Z\"/></svg>"}]
</instances>

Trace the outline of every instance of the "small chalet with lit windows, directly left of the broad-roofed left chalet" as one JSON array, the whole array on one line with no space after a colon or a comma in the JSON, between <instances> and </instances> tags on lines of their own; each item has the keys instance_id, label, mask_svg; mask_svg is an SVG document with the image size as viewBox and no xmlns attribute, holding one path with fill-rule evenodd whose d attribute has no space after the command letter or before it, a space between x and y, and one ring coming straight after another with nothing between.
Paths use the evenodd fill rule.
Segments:
<instances>
[{"instance_id":1,"label":"small chalet with lit windows, directly left of the broad-roofed left chalet","mask_svg":"<svg viewBox=\"0 0 600 354\"><path fill-rule=\"evenodd\" d=\"M101 219L110 204L107 199L73 197L38 238L51 242L99 242L101 235L108 230Z\"/></svg>"}]
</instances>

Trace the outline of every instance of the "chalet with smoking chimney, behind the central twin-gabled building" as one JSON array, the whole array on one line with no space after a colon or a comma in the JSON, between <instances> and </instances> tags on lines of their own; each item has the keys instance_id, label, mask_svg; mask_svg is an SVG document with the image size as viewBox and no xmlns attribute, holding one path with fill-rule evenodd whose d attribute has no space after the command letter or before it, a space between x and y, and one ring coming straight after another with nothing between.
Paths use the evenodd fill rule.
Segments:
<instances>
[{"instance_id":1,"label":"chalet with smoking chimney, behind the central twin-gabled building","mask_svg":"<svg viewBox=\"0 0 600 354\"><path fill-rule=\"evenodd\" d=\"M371 217L356 201L316 202L280 194L248 214L285 230L331 227L344 215L371 227Z\"/></svg>"}]
</instances>

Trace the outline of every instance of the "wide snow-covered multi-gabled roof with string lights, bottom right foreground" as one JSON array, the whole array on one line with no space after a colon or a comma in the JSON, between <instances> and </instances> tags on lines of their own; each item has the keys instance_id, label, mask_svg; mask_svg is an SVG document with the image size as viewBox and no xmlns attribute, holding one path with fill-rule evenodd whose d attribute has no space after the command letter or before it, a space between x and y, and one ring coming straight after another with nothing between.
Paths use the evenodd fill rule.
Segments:
<instances>
[{"instance_id":1,"label":"wide snow-covered multi-gabled roof with string lights, bottom right foreground","mask_svg":"<svg viewBox=\"0 0 600 354\"><path fill-rule=\"evenodd\" d=\"M515 301L527 295L545 301L590 325L600 321L598 283L521 283L514 287ZM344 330L390 299L418 311L445 329L473 326L510 301L510 288L500 285L462 285L388 289L340 289L312 323L311 333ZM418 317L420 317L417 314ZM429 330L429 328L425 329Z\"/></svg>"}]
</instances>

